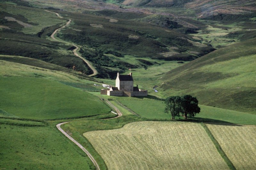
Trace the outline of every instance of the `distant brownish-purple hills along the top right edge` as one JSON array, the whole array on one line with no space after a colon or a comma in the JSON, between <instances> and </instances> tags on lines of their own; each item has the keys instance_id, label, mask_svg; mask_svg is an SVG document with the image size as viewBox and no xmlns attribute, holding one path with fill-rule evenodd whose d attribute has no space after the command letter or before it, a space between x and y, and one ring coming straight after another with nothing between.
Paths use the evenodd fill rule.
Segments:
<instances>
[{"instance_id":1,"label":"distant brownish-purple hills along the top right edge","mask_svg":"<svg viewBox=\"0 0 256 170\"><path fill-rule=\"evenodd\" d=\"M106 0L106 2L136 7L185 8L196 11L198 18L218 14L246 14L256 11L256 3L253 0Z\"/></svg>"}]
</instances>

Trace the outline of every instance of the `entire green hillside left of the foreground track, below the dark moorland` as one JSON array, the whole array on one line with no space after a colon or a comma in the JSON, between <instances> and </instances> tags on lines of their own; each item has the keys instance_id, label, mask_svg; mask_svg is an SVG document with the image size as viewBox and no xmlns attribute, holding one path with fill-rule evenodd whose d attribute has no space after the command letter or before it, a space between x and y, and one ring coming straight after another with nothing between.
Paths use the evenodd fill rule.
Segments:
<instances>
[{"instance_id":1,"label":"entire green hillside left of the foreground track, below the dark moorland","mask_svg":"<svg viewBox=\"0 0 256 170\"><path fill-rule=\"evenodd\" d=\"M0 168L94 169L86 154L55 125L72 117L114 115L106 114L110 108L98 97L82 91L92 89L95 82L35 59L1 57L18 63L0 60ZM21 64L25 61L44 68Z\"/></svg>"}]
</instances>

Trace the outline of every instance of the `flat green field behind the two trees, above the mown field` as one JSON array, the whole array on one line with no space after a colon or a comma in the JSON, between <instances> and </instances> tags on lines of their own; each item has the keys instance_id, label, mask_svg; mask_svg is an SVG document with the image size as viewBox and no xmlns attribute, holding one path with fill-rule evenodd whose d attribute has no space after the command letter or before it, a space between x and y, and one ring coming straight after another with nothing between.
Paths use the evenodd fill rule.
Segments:
<instances>
[{"instance_id":1,"label":"flat green field behind the two trees, above the mown field","mask_svg":"<svg viewBox=\"0 0 256 170\"><path fill-rule=\"evenodd\" d=\"M164 101L159 100L118 100L125 106L129 107L138 115L148 119L171 119L170 114L164 113ZM144 107L147 106L147 107ZM199 105L201 112L191 119L199 121L215 121L215 122L229 122L237 124L256 125L256 115L237 112L234 110L221 109L217 107L210 107ZM183 117L176 117L176 119L183 119Z\"/></svg>"}]
</instances>

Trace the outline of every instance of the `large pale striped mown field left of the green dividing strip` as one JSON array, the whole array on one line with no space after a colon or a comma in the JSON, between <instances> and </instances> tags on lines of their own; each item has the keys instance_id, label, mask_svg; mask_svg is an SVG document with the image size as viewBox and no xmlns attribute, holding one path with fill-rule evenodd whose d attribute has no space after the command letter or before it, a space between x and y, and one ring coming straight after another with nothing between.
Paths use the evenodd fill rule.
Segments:
<instances>
[{"instance_id":1,"label":"large pale striped mown field left of the green dividing strip","mask_svg":"<svg viewBox=\"0 0 256 170\"><path fill-rule=\"evenodd\" d=\"M108 169L228 169L198 123L132 122L84 136Z\"/></svg>"}]
</instances>

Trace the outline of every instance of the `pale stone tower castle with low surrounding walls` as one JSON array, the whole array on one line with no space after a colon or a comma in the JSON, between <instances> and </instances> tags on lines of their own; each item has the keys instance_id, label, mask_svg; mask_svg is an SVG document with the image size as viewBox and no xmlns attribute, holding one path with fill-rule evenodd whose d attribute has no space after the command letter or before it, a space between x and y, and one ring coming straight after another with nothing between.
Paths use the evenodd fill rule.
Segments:
<instances>
[{"instance_id":1,"label":"pale stone tower castle with low surrounding walls","mask_svg":"<svg viewBox=\"0 0 256 170\"><path fill-rule=\"evenodd\" d=\"M138 85L133 87L132 73L128 75L120 75L117 73L116 87L111 86L110 89L101 89L100 94L108 96L147 96L147 90L139 89Z\"/></svg>"}]
</instances>

